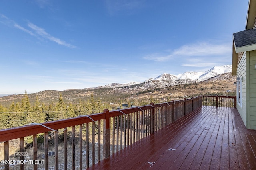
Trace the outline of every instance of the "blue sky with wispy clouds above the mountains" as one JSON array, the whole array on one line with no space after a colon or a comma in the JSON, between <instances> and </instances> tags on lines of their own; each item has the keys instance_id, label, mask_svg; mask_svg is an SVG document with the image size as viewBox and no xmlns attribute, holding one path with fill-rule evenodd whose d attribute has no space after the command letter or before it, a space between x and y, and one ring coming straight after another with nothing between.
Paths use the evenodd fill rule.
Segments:
<instances>
[{"instance_id":1,"label":"blue sky with wispy clouds above the mountains","mask_svg":"<svg viewBox=\"0 0 256 170\"><path fill-rule=\"evenodd\" d=\"M242 0L1 0L0 94L231 64L247 8Z\"/></svg>"}]
</instances>

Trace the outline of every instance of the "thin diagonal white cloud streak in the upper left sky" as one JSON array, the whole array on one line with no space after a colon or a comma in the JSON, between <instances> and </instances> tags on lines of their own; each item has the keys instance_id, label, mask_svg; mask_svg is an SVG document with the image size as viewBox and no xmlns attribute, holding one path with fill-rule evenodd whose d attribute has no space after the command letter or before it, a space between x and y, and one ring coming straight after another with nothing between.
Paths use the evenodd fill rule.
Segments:
<instances>
[{"instance_id":1,"label":"thin diagonal white cloud streak in the upper left sky","mask_svg":"<svg viewBox=\"0 0 256 170\"><path fill-rule=\"evenodd\" d=\"M53 37L52 35L50 35L46 31L44 31L43 28L40 28L40 27L34 25L33 23L28 23L28 27L33 29L38 35L40 35L41 37L43 37L45 39L48 39L48 40L53 41L55 43L58 43L59 45L64 45L64 46L70 47L70 48L76 48L76 46L74 46L74 45L68 44L65 41L62 41L62 40L60 40L56 37Z\"/></svg>"}]
</instances>

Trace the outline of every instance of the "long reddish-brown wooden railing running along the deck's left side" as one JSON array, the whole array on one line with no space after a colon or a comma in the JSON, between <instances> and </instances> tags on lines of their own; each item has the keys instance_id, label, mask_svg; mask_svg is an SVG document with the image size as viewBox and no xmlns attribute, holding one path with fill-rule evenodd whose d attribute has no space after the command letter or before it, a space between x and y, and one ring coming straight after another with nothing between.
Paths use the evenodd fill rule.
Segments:
<instances>
[{"instance_id":1,"label":"long reddish-brown wooden railing running along the deck's left side","mask_svg":"<svg viewBox=\"0 0 256 170\"><path fill-rule=\"evenodd\" d=\"M198 96L2 129L0 169L85 169L201 106Z\"/></svg>"}]
</instances>

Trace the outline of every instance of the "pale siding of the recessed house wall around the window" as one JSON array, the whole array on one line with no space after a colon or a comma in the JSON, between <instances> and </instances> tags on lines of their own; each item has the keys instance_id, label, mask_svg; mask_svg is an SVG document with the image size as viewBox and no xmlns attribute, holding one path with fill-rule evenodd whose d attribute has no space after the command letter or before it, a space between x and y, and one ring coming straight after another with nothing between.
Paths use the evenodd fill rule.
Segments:
<instances>
[{"instance_id":1,"label":"pale siding of the recessed house wall around the window","mask_svg":"<svg viewBox=\"0 0 256 170\"><path fill-rule=\"evenodd\" d=\"M237 66L237 77L242 76L242 105L237 104L237 110L246 125L246 53L242 55L240 62ZM238 94L237 94L238 96Z\"/></svg>"}]
</instances>

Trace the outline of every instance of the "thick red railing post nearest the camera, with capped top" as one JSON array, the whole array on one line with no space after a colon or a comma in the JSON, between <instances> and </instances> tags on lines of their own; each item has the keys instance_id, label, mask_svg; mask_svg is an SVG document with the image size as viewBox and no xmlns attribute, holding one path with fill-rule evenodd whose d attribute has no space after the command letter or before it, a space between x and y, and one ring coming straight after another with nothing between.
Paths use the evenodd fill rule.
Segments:
<instances>
[{"instance_id":1,"label":"thick red railing post nearest the camera, with capped top","mask_svg":"<svg viewBox=\"0 0 256 170\"><path fill-rule=\"evenodd\" d=\"M103 141L103 156L104 159L108 158L110 156L110 117L109 117L109 110L105 109L104 114L106 116L105 121L105 127L104 127L104 141Z\"/></svg>"}]
</instances>

